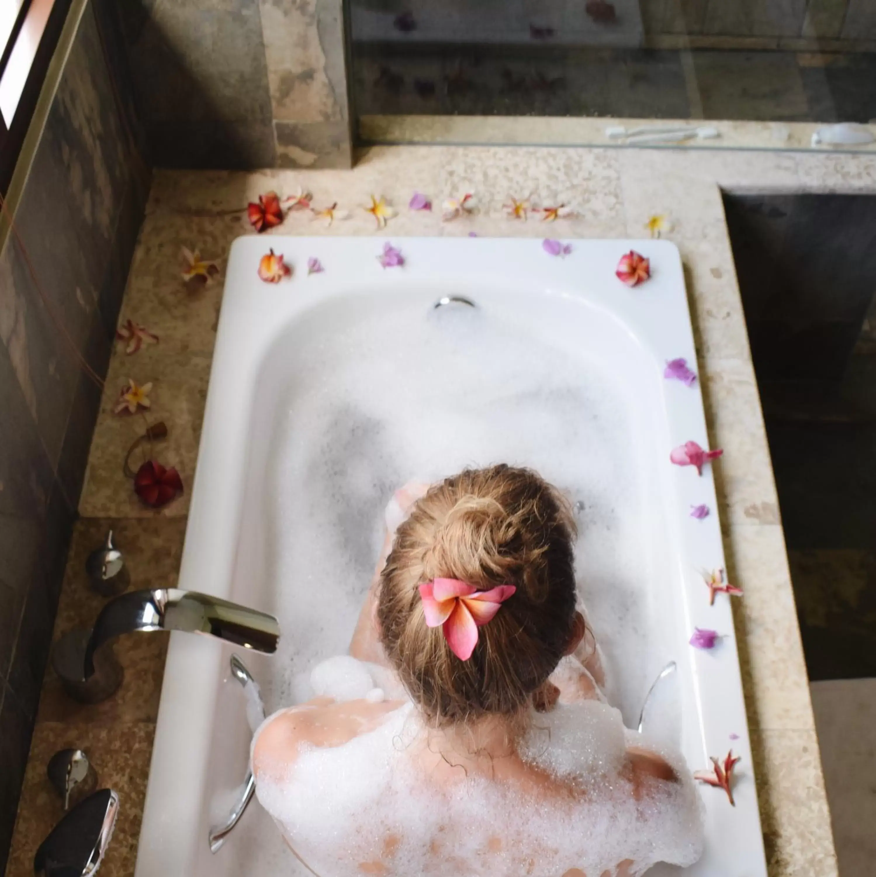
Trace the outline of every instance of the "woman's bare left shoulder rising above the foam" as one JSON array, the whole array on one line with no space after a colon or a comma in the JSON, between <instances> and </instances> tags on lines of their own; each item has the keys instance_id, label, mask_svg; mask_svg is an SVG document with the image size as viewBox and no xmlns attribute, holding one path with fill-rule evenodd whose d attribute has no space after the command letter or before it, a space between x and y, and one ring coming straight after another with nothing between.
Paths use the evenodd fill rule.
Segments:
<instances>
[{"instance_id":1,"label":"woman's bare left shoulder rising above the foam","mask_svg":"<svg viewBox=\"0 0 876 877\"><path fill-rule=\"evenodd\" d=\"M402 701L374 703L366 700L335 701L316 697L267 720L253 748L253 773L285 773L305 748L342 746L362 734L374 731Z\"/></svg>"}]
</instances>

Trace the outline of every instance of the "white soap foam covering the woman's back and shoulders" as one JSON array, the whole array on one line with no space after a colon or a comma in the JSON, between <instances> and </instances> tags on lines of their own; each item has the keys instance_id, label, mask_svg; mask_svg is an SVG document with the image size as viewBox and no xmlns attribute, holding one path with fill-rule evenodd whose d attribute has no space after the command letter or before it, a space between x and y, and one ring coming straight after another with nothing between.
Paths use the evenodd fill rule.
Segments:
<instances>
[{"instance_id":1,"label":"white soap foam covering the woman's back and shoulders","mask_svg":"<svg viewBox=\"0 0 876 877\"><path fill-rule=\"evenodd\" d=\"M371 668L333 658L314 676L337 700L380 699ZM634 793L626 752L641 740L607 703L531 716L517 751L563 782L566 793L548 800L467 772L436 779L434 767L424 767L429 733L408 702L345 745L305 747L294 766L260 756L256 794L320 877L599 877L625 860L635 875L658 861L690 865L702 852L700 802L684 760L661 752L679 781L652 779ZM367 863L386 870L368 871Z\"/></svg>"}]
</instances>

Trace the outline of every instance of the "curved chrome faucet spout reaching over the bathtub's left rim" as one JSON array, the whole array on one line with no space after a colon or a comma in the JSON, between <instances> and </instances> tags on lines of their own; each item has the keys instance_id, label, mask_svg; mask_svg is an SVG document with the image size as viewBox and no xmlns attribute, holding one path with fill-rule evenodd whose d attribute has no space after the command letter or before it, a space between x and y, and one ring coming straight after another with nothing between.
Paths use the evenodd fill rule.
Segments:
<instances>
[{"instance_id":1,"label":"curved chrome faucet spout reaching over the bathtub's left rim","mask_svg":"<svg viewBox=\"0 0 876 877\"><path fill-rule=\"evenodd\" d=\"M267 654L280 639L274 616L238 603L179 588L132 591L110 600L91 631L68 631L55 645L52 665L68 694L85 703L109 697L124 676L113 641L133 631L204 633Z\"/></svg>"}]
</instances>

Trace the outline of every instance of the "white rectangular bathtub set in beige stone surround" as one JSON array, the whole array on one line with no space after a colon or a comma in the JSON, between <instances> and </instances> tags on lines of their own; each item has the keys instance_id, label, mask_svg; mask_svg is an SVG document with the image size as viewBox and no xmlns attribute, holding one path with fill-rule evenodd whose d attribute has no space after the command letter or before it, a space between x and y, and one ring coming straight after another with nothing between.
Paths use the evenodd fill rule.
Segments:
<instances>
[{"instance_id":1,"label":"white rectangular bathtub set in beige stone surround","mask_svg":"<svg viewBox=\"0 0 876 877\"><path fill-rule=\"evenodd\" d=\"M558 258L540 239L394 239L405 265L383 268L384 242L251 236L232 246L179 587L281 617L281 653L243 655L274 708L303 696L312 660L344 651L397 481L513 453L507 461L534 465L583 504L582 588L609 665L623 657L614 697L627 724L675 660L688 764L708 767L731 747L742 757L735 808L702 787L707 849L690 873L766 875L729 598L710 607L700 574L723 567L712 474L669 462L689 439L708 446L699 385L663 376L666 360L696 360L675 246L579 240ZM294 267L277 284L256 274L269 246ZM615 276L631 248L652 260L652 279L635 289ZM310 257L324 273L307 275ZM441 296L477 308L433 310ZM395 335L384 338L383 326ZM393 339L407 338L406 326L431 351L428 367L396 355ZM360 336L371 339L361 351ZM503 347L506 337L528 340ZM531 374L545 363L557 386L542 399L524 374L497 392L488 368L463 370L460 381L454 369L479 338L499 339L489 359L503 363L496 374L530 357ZM345 389L351 401L338 403ZM383 423L388 403L397 417ZM566 479L578 472L579 445L581 474ZM700 503L712 510L705 520L690 517ZM322 538L330 551L315 550ZM334 623L324 624L317 595ZM692 648L695 626L719 631L721 645ZM209 851L223 791L242 780L248 756L230 654L208 638L171 638L136 877L303 873L257 801L224 847Z\"/></svg>"}]
</instances>

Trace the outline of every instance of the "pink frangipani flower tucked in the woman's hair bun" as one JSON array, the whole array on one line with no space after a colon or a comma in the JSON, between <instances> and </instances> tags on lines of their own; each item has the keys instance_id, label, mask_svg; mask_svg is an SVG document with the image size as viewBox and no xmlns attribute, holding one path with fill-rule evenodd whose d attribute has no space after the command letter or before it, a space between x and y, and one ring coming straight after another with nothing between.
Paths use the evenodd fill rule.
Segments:
<instances>
[{"instance_id":1,"label":"pink frangipani flower tucked in the woman's hair bun","mask_svg":"<svg viewBox=\"0 0 876 877\"><path fill-rule=\"evenodd\" d=\"M495 616L516 588L500 585L479 591L459 579L435 579L419 590L427 626L443 628L451 652L459 660L468 660L478 644L478 628Z\"/></svg>"}]
</instances>

